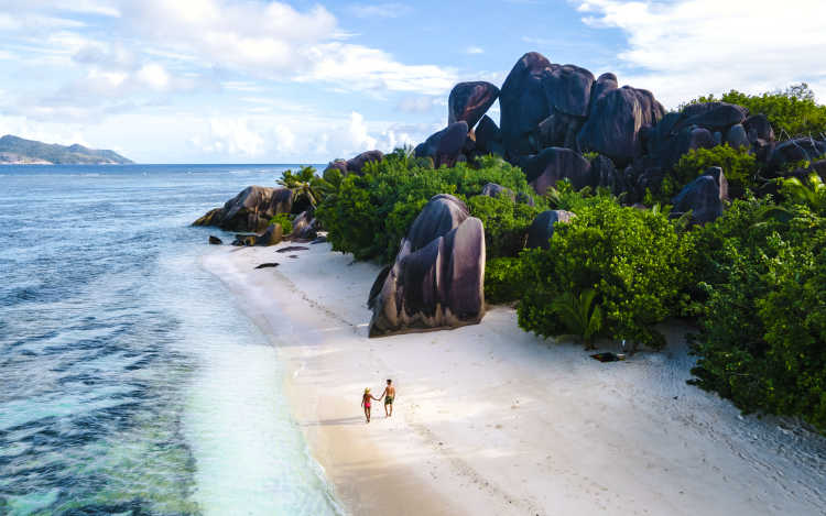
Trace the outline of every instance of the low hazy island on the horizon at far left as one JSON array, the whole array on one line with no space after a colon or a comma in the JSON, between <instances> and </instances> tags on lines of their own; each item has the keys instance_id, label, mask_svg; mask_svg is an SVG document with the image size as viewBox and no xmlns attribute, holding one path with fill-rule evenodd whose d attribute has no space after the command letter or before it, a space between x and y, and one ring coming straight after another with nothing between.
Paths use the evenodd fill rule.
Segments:
<instances>
[{"instance_id":1,"label":"low hazy island on the horizon at far left","mask_svg":"<svg viewBox=\"0 0 826 516\"><path fill-rule=\"evenodd\" d=\"M58 145L7 134L0 138L0 165L123 165L133 163L115 151Z\"/></svg>"}]
</instances>

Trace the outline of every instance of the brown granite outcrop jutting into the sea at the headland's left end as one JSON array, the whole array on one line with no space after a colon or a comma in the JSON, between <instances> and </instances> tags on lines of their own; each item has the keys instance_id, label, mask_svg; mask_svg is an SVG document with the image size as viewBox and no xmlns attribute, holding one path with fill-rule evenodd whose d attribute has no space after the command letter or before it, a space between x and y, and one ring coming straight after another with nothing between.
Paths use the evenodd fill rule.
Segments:
<instances>
[{"instance_id":1,"label":"brown granite outcrop jutting into the sea at the headland's left end","mask_svg":"<svg viewBox=\"0 0 826 516\"><path fill-rule=\"evenodd\" d=\"M193 222L193 226L217 226L227 231L263 231L270 219L289 213L293 194L287 188L248 186L228 200Z\"/></svg>"}]
</instances>

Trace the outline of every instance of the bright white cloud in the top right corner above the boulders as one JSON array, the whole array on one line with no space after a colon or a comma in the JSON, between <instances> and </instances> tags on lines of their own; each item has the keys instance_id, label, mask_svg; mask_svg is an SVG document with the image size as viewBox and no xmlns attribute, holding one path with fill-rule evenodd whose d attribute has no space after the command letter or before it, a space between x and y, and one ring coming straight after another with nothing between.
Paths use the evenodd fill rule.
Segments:
<instances>
[{"instance_id":1,"label":"bright white cloud in the top right corner above the boulders","mask_svg":"<svg viewBox=\"0 0 826 516\"><path fill-rule=\"evenodd\" d=\"M622 81L666 106L731 88L761 92L809 81L826 97L822 0L793 7L753 0L578 1L583 21L628 35ZM623 80L624 79L624 80Z\"/></svg>"}]
</instances>

